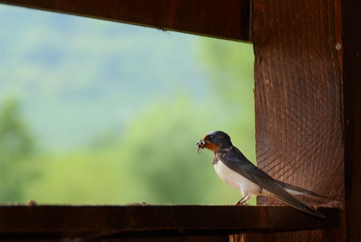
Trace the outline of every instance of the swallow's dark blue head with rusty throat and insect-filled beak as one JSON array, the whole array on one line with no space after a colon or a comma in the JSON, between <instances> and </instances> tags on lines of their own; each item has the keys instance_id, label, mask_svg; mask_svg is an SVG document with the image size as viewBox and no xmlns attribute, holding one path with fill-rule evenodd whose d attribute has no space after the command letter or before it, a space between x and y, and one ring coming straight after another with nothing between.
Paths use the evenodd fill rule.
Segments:
<instances>
[{"instance_id":1,"label":"swallow's dark blue head with rusty throat and insect-filled beak","mask_svg":"<svg viewBox=\"0 0 361 242\"><path fill-rule=\"evenodd\" d=\"M230 148L231 146L232 142L228 134L222 131L213 131L197 143L197 150L200 152L206 148L215 152L220 149Z\"/></svg>"}]
</instances>

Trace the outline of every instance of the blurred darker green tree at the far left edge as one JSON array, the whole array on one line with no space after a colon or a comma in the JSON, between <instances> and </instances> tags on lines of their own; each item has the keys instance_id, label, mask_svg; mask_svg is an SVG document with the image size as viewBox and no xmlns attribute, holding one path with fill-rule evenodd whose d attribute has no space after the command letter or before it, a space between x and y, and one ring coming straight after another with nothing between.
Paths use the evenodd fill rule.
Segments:
<instances>
[{"instance_id":1,"label":"blurred darker green tree at the far left edge","mask_svg":"<svg viewBox=\"0 0 361 242\"><path fill-rule=\"evenodd\" d=\"M0 201L24 201L23 185L34 173L24 164L34 150L16 99L6 100L0 112Z\"/></svg>"}]
</instances>

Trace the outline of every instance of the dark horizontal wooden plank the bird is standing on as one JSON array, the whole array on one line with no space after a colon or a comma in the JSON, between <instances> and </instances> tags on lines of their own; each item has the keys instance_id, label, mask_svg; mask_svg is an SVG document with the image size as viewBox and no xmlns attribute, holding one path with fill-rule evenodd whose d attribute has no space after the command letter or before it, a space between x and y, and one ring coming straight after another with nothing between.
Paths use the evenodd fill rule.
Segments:
<instances>
[{"instance_id":1,"label":"dark horizontal wooden plank the bird is standing on","mask_svg":"<svg viewBox=\"0 0 361 242\"><path fill-rule=\"evenodd\" d=\"M324 220L288 206L0 206L0 239L78 235L189 236L274 232L339 226L337 208Z\"/></svg>"}]
</instances>

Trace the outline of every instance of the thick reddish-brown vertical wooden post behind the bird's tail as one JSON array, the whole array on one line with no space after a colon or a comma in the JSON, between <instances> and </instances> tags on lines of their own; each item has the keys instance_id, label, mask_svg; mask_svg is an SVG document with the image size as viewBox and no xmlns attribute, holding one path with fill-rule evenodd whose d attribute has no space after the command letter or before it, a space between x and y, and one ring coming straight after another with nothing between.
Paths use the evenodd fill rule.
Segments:
<instances>
[{"instance_id":1,"label":"thick reddish-brown vertical wooden post behind the bird's tail","mask_svg":"<svg viewBox=\"0 0 361 242\"><path fill-rule=\"evenodd\" d=\"M338 206L342 225L231 240L345 241L341 24L340 0L253 1L257 164L276 179L340 200L299 197Z\"/></svg>"}]
</instances>

